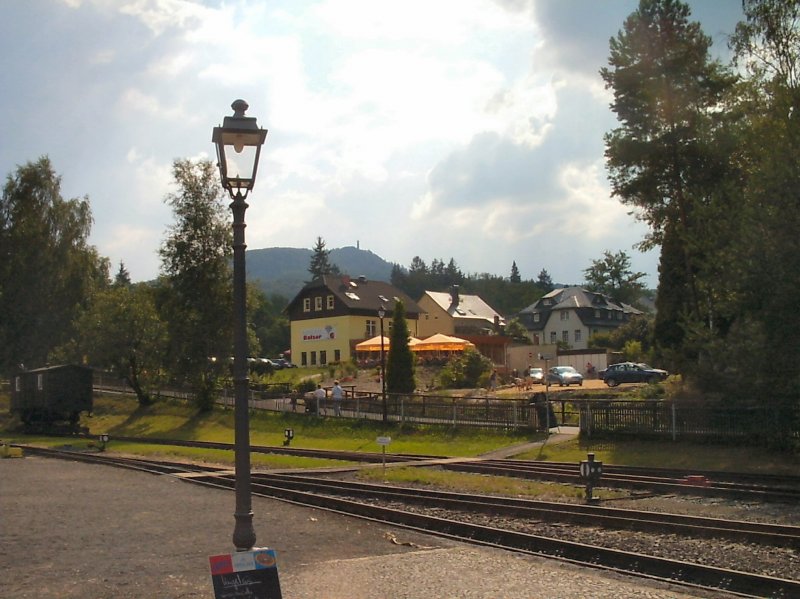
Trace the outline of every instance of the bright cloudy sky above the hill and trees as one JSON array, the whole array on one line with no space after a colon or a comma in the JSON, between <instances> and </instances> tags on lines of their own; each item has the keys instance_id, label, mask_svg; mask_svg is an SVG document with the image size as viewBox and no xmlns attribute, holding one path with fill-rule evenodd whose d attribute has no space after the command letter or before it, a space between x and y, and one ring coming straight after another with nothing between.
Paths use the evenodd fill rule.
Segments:
<instances>
[{"instance_id":1,"label":"bright cloudy sky above the hill and trees","mask_svg":"<svg viewBox=\"0 0 800 599\"><path fill-rule=\"evenodd\" d=\"M408 266L580 283L606 249L657 282L610 197L598 74L635 0L0 2L0 174L49 155L91 242L154 278L173 159L243 98L269 129L249 249L359 244ZM740 0L690 0L727 56Z\"/></svg>"}]
</instances>

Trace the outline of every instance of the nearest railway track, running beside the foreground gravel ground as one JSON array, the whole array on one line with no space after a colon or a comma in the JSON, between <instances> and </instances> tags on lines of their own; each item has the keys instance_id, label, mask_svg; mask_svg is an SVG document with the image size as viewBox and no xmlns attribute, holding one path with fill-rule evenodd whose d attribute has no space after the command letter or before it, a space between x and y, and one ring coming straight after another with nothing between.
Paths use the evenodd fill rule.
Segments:
<instances>
[{"instance_id":1,"label":"nearest railway track, running beside the foreground gravel ground","mask_svg":"<svg viewBox=\"0 0 800 599\"><path fill-rule=\"evenodd\" d=\"M159 474L173 474L194 483L225 489L233 489L235 483L232 472L221 468L116 458L96 453L27 447L24 449L27 453L79 459ZM714 567L681 559L668 559L642 552L520 532L493 526L491 520L489 524L468 521L468 517L459 514L479 511L499 520L511 518L528 522L556 521L569 525L602 526L626 531L648 530L661 535L724 539L725 543L749 539L749 543L788 547L790 548L788 551L794 553L800 546L800 527L698 519L595 506L563 506L513 498L426 492L419 489L387 488L382 485L318 480L308 476L286 474L254 473L252 486L254 495L334 510L471 543L553 556L585 565L724 590L743 596L800 596L800 580L794 578L780 578L770 573L742 572L728 567ZM412 504L424 509L415 511L405 507ZM442 513L446 515L442 516Z\"/></svg>"}]
</instances>

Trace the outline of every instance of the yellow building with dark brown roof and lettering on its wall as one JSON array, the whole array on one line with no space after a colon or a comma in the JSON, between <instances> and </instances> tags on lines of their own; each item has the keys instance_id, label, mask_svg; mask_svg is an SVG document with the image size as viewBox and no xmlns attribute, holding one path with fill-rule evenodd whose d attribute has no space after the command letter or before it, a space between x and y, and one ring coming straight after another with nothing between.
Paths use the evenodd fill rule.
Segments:
<instances>
[{"instance_id":1,"label":"yellow building with dark brown roof and lettering on its wall","mask_svg":"<svg viewBox=\"0 0 800 599\"><path fill-rule=\"evenodd\" d=\"M417 336L420 308L405 293L366 277L323 275L308 283L289 303L292 361L324 366L349 360L357 343L380 334L379 309L388 337L397 300L403 302L408 332Z\"/></svg>"}]
</instances>

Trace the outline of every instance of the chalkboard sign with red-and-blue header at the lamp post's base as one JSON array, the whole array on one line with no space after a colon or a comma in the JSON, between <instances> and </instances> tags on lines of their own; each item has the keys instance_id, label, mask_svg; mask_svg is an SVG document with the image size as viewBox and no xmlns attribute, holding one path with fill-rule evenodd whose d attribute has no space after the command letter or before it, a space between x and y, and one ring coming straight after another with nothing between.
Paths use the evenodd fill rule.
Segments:
<instances>
[{"instance_id":1,"label":"chalkboard sign with red-and-blue header at the lamp post's base","mask_svg":"<svg viewBox=\"0 0 800 599\"><path fill-rule=\"evenodd\" d=\"M215 599L282 599L274 549L253 549L208 558Z\"/></svg>"}]
</instances>

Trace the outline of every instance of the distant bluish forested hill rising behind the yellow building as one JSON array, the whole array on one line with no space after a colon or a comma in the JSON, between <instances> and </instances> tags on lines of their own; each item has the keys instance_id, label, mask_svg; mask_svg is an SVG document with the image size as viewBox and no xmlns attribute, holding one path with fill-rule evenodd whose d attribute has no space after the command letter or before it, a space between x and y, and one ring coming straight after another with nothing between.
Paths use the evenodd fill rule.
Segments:
<instances>
[{"instance_id":1,"label":"distant bluish forested hill rising behind the yellow building","mask_svg":"<svg viewBox=\"0 0 800 599\"><path fill-rule=\"evenodd\" d=\"M313 252L305 248L264 248L247 252L247 280L258 282L267 295L291 300L311 278L308 266ZM389 281L392 264L369 250L353 246L332 249L331 264L352 277Z\"/></svg>"}]
</instances>

